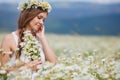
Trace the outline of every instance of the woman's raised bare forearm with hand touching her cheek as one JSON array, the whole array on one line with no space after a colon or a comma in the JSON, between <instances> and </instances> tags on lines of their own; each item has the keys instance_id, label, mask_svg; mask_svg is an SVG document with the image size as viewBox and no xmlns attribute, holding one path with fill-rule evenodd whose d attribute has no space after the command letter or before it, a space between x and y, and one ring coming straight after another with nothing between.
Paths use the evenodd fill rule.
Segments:
<instances>
[{"instance_id":1,"label":"woman's raised bare forearm with hand touching her cheek","mask_svg":"<svg viewBox=\"0 0 120 80\"><path fill-rule=\"evenodd\" d=\"M57 56L55 55L54 51L48 44L48 41L44 34L44 25L41 27L41 30L36 32L37 37L40 39L41 44L43 46L43 51L47 61L50 61L54 64L57 62Z\"/></svg>"}]
</instances>

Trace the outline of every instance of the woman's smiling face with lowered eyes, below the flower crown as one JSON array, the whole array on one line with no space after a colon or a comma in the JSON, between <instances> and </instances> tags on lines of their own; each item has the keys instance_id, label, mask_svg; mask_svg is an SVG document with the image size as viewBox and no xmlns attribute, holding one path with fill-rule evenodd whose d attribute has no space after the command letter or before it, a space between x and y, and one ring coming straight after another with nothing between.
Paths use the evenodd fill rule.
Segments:
<instances>
[{"instance_id":1,"label":"woman's smiling face with lowered eyes, below the flower crown","mask_svg":"<svg viewBox=\"0 0 120 80\"><path fill-rule=\"evenodd\" d=\"M35 18L33 18L28 24L29 30L39 31L44 25L44 20L47 17L47 12L39 13Z\"/></svg>"}]
</instances>

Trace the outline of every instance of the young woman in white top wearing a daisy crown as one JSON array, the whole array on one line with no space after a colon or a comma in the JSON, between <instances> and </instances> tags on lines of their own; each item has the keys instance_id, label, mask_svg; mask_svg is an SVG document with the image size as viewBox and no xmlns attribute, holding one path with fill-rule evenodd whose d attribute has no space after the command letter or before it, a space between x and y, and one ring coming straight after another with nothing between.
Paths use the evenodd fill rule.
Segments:
<instances>
[{"instance_id":1,"label":"young woman in white top wearing a daisy crown","mask_svg":"<svg viewBox=\"0 0 120 80\"><path fill-rule=\"evenodd\" d=\"M44 2L43 2L44 3ZM51 47L49 46L45 37L45 26L44 21L47 18L49 12L49 4L43 6L41 3L25 3L27 6L22 6L22 11L18 19L18 29L8 35L6 35L2 41L1 48L4 52L12 52L12 54L5 54L2 56L2 65L6 65L9 61L14 64L15 59L19 58L26 66L32 70L36 70L38 65L44 64L45 60L50 61L54 64L57 62L57 57ZM39 41L42 52L40 53L41 58L38 60L28 61L24 53L22 53L20 43L23 42L24 32L30 31L33 36ZM16 53L16 48L19 48L19 53ZM9 60L11 58L11 60ZM34 66L31 66L34 64ZM8 67L8 71L15 68Z\"/></svg>"}]
</instances>

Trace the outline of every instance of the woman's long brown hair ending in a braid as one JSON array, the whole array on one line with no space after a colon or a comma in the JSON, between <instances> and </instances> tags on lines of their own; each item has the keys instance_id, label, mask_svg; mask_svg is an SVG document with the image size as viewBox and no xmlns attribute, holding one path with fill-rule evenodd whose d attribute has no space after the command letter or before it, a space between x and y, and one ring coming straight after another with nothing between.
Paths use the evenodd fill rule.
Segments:
<instances>
[{"instance_id":1,"label":"woman's long brown hair ending in a braid","mask_svg":"<svg viewBox=\"0 0 120 80\"><path fill-rule=\"evenodd\" d=\"M21 55L21 46L20 42L23 42L24 40L22 39L24 34L24 30L26 28L26 25L29 24L29 22L36 17L39 13L42 12L47 12L47 10L43 10L41 7L38 8L29 8L21 11L19 19L18 19L18 30L19 30L19 43L18 43L18 48L19 48L19 56Z\"/></svg>"}]
</instances>

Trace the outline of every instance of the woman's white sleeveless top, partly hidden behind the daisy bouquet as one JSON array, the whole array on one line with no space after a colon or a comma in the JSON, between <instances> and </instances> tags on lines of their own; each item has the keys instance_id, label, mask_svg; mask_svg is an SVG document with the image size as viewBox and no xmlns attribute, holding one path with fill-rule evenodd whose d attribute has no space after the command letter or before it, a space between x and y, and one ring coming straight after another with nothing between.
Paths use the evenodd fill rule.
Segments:
<instances>
[{"instance_id":1,"label":"woman's white sleeveless top, partly hidden behind the daisy bouquet","mask_svg":"<svg viewBox=\"0 0 120 80\"><path fill-rule=\"evenodd\" d=\"M16 43L16 48L17 48L17 46L18 46L18 36L16 35L15 32L12 32L12 35L14 37L14 40L15 40L15 43ZM40 43L40 41L39 41L39 43ZM40 47L42 48L41 43L40 43ZM40 55L41 55L42 64L44 64L45 63L45 55L44 55L43 49L41 50ZM13 58L11 60L14 62L15 61L14 59L16 59L15 56L13 56ZM29 62L29 59L25 56L24 53L21 53L20 60L25 62L25 63Z\"/></svg>"}]
</instances>

